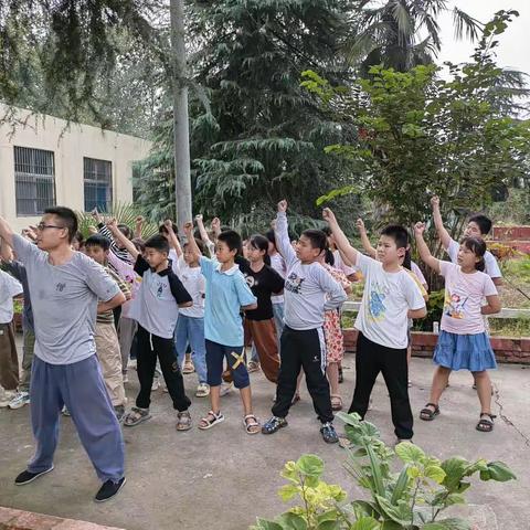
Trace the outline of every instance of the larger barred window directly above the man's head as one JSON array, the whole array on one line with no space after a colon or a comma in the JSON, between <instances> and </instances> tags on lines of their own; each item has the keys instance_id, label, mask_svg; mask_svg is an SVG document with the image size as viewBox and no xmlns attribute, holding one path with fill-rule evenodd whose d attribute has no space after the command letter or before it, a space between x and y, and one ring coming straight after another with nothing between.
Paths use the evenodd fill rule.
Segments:
<instances>
[{"instance_id":1,"label":"larger barred window directly above the man's head","mask_svg":"<svg viewBox=\"0 0 530 530\"><path fill-rule=\"evenodd\" d=\"M14 146L17 215L40 215L55 205L53 151Z\"/></svg>"}]
</instances>

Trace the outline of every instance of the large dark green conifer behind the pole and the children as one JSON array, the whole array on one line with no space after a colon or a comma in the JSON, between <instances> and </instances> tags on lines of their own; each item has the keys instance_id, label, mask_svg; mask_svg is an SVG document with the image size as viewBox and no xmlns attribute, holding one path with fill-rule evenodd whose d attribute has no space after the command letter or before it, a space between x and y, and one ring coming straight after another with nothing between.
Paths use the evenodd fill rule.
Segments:
<instances>
[{"instance_id":1,"label":"large dark green conifer behind the pole and the children","mask_svg":"<svg viewBox=\"0 0 530 530\"><path fill-rule=\"evenodd\" d=\"M329 120L300 87L308 65L337 83L351 75L338 54L349 31L347 9L338 0L195 4L190 65L204 96L195 91L191 104L195 210L263 227L274 204L288 197L295 212L314 218L315 199L347 180L347 166L326 157L324 147L346 139L349 129ZM161 186L170 180L161 171L171 166L163 156L170 132L166 127L142 172L158 176Z\"/></svg>"}]
</instances>

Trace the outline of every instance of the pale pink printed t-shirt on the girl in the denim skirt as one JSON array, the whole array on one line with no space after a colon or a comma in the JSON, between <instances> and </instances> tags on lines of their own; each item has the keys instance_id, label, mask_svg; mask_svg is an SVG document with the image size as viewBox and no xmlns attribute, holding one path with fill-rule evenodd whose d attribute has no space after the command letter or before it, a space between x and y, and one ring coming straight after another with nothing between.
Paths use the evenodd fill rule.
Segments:
<instances>
[{"instance_id":1,"label":"pale pink printed t-shirt on the girl in the denim skirt","mask_svg":"<svg viewBox=\"0 0 530 530\"><path fill-rule=\"evenodd\" d=\"M445 276L445 303L441 329L456 335L484 333L484 316L480 312L486 296L497 295L492 279L477 271L466 274L459 265L439 262Z\"/></svg>"}]
</instances>

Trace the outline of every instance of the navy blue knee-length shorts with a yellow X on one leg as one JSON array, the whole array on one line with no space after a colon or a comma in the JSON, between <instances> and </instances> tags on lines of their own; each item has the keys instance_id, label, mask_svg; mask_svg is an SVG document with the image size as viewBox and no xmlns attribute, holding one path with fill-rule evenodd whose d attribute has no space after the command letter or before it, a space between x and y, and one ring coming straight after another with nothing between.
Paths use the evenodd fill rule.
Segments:
<instances>
[{"instance_id":1,"label":"navy blue knee-length shorts with a yellow X on one leg","mask_svg":"<svg viewBox=\"0 0 530 530\"><path fill-rule=\"evenodd\" d=\"M219 386L221 384L223 361L225 358L229 369L232 372L234 386L236 389L245 389L248 386L251 380L246 370L243 346L224 346L206 339L208 384L210 386Z\"/></svg>"}]
</instances>

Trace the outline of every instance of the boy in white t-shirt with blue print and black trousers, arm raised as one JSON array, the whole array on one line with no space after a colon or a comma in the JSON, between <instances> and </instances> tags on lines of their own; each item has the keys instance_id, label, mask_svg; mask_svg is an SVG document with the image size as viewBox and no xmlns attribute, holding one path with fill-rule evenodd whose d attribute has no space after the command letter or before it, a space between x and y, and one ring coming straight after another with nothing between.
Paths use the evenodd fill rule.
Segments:
<instances>
[{"instance_id":1,"label":"boy in white t-shirt with blue print and black trousers, arm raised","mask_svg":"<svg viewBox=\"0 0 530 530\"><path fill-rule=\"evenodd\" d=\"M378 243L378 259L373 259L350 245L331 210L324 210L324 219L329 223L338 248L364 276L364 293L356 320L359 330L356 391L348 412L364 417L373 384L382 372L395 435L400 441L411 439L414 422L407 385L409 318L423 318L427 310L416 283L400 265L409 245L407 232L399 225L384 229Z\"/></svg>"}]
</instances>

